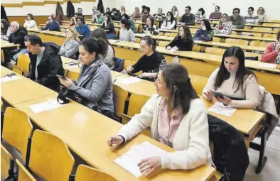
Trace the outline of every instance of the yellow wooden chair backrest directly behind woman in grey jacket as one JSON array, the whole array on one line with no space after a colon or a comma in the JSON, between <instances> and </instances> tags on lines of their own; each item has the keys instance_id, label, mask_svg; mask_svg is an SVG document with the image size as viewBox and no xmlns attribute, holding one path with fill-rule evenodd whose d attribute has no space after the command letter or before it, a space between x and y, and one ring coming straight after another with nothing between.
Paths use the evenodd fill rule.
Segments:
<instances>
[{"instance_id":1,"label":"yellow wooden chair backrest directly behind woman in grey jacket","mask_svg":"<svg viewBox=\"0 0 280 181\"><path fill-rule=\"evenodd\" d=\"M124 104L129 93L126 92L122 87L118 85L113 85L113 97L114 97L114 111L117 116L121 116L124 113Z\"/></svg>"}]
</instances>

